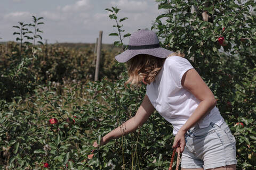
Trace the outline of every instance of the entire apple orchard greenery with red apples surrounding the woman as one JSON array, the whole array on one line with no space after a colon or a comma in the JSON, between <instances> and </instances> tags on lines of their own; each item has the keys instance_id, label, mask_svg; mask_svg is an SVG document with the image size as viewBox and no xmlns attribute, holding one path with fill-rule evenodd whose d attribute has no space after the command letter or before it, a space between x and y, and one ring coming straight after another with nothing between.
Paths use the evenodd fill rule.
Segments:
<instances>
[{"instance_id":1,"label":"entire apple orchard greenery with red apples surrounding the woman","mask_svg":"<svg viewBox=\"0 0 256 170\"><path fill-rule=\"evenodd\" d=\"M256 169L255 2L157 3L161 14L151 29L161 46L185 53L212 90L236 138L237 169ZM193 5L197 10L191 13ZM116 41L102 49L100 81L91 76L93 46L43 44L43 18L14 25L17 42L0 44L0 168L169 168L172 126L157 112L137 131L106 146L92 146L134 116L146 92L144 85L123 86L126 65L114 56L125 48L119 38L130 35L124 30L127 18L119 18L123 11L117 7L106 10Z\"/></svg>"}]
</instances>

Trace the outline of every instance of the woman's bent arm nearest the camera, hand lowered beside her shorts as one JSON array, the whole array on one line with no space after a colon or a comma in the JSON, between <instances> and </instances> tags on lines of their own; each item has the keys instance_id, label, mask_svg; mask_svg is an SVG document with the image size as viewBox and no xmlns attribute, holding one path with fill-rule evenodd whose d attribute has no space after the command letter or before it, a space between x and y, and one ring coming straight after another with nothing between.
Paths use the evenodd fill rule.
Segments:
<instances>
[{"instance_id":1,"label":"woman's bent arm nearest the camera, hand lowered beside her shorts","mask_svg":"<svg viewBox=\"0 0 256 170\"><path fill-rule=\"evenodd\" d=\"M195 69L190 69L183 75L181 84L183 88L187 89L189 92L191 92L191 94L201 101L194 113L188 118L187 122L181 127L175 136L173 148L180 145L181 151L183 151L185 147L184 134L197 122L199 122L199 120L206 116L206 114L212 110L217 102L212 91L207 84L205 84Z\"/></svg>"}]
</instances>

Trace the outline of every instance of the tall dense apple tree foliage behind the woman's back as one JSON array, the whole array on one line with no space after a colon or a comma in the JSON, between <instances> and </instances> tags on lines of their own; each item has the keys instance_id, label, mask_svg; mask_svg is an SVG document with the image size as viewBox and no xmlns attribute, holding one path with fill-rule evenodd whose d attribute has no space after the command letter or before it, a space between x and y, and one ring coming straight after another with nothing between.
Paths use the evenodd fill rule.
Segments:
<instances>
[{"instance_id":1,"label":"tall dense apple tree foliage behind the woman's back","mask_svg":"<svg viewBox=\"0 0 256 170\"><path fill-rule=\"evenodd\" d=\"M237 169L254 169L255 141L255 14L252 1L158 1L166 9L156 18L152 29L157 31L162 46L181 50L213 91L217 107L236 137ZM192 5L198 7L190 13ZM255 4L252 4L255 7ZM201 13L208 11L211 22L203 21ZM220 46L224 37L227 46ZM252 85L253 84L253 85ZM246 127L234 128L237 122ZM250 123L249 123L250 122Z\"/></svg>"}]
</instances>

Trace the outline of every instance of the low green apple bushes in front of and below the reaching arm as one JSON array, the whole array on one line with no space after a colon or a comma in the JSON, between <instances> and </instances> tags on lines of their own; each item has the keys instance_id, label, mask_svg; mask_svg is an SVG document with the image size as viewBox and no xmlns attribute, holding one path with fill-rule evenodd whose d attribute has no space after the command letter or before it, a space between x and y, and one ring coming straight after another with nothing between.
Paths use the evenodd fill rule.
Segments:
<instances>
[{"instance_id":1,"label":"low green apple bushes in front of and below the reaching arm","mask_svg":"<svg viewBox=\"0 0 256 170\"><path fill-rule=\"evenodd\" d=\"M0 143L4 148L10 147L9 168L42 167L44 162L49 163L50 169L65 168L69 159L74 164L68 166L76 169L120 169L130 167L131 160L141 169L167 168L171 153L166 148L171 149L172 128L157 114L137 132L111 141L95 150L92 159L87 158L94 149L95 137L134 116L143 99L145 87L124 89L125 75L115 83L103 79L82 88L82 84L73 84L63 88L62 95L50 86L38 86L33 98L17 98L17 103L0 113L4 127ZM67 122L68 117L75 117L75 122ZM51 118L57 118L58 124L49 124ZM152 163L155 159L157 162Z\"/></svg>"}]
</instances>

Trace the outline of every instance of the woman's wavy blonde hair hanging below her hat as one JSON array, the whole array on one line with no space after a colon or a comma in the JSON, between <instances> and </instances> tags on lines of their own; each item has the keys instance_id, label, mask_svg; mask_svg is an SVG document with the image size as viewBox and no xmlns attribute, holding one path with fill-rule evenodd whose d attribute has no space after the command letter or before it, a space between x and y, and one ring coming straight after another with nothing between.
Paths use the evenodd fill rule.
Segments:
<instances>
[{"instance_id":1,"label":"woman's wavy blonde hair hanging below her hat","mask_svg":"<svg viewBox=\"0 0 256 170\"><path fill-rule=\"evenodd\" d=\"M172 53L168 57L170 56L185 57L180 51ZM139 54L131 58L127 62L129 79L124 83L124 87L127 88L128 83L141 87L143 80L147 84L153 82L162 69L166 58L158 58L147 54Z\"/></svg>"}]
</instances>

